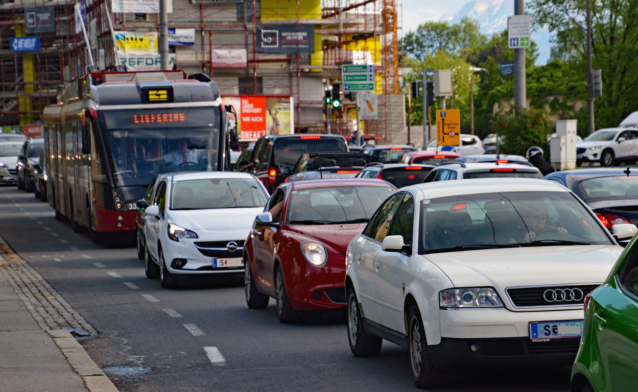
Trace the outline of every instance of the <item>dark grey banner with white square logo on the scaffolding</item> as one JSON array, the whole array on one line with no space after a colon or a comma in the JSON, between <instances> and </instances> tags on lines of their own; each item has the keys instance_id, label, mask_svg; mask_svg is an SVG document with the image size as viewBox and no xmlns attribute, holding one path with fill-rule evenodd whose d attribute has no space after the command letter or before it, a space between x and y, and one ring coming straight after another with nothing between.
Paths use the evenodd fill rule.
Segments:
<instances>
[{"instance_id":1,"label":"dark grey banner with white square logo on the scaffolding","mask_svg":"<svg viewBox=\"0 0 638 392\"><path fill-rule=\"evenodd\" d=\"M257 52L313 54L315 25L258 24Z\"/></svg>"}]
</instances>

